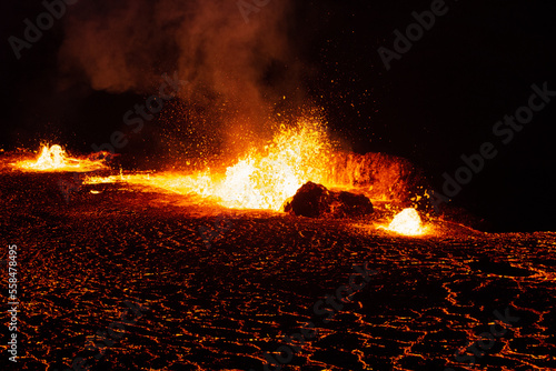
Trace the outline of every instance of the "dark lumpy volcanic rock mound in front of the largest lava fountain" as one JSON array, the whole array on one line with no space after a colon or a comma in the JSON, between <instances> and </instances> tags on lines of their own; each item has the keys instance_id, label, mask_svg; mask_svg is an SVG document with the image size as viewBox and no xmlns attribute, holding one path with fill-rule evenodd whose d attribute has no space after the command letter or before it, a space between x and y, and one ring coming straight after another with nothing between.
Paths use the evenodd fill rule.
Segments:
<instances>
[{"instance_id":1,"label":"dark lumpy volcanic rock mound in front of the largest lava fountain","mask_svg":"<svg viewBox=\"0 0 556 371\"><path fill-rule=\"evenodd\" d=\"M286 200L284 211L308 218L361 217L373 213L373 203L363 194L335 192L321 184L307 182Z\"/></svg>"}]
</instances>

